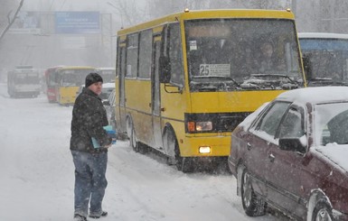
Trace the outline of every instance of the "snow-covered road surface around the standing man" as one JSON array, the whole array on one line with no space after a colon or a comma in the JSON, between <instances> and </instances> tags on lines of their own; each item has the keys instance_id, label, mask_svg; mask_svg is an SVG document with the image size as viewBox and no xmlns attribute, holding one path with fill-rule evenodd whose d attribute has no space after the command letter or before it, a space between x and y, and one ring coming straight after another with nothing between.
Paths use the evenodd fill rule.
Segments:
<instances>
[{"instance_id":1,"label":"snow-covered road surface around the standing man","mask_svg":"<svg viewBox=\"0 0 348 221\"><path fill-rule=\"evenodd\" d=\"M0 84L0 220L72 220L71 110L44 95L10 98ZM107 178L101 221L287 220L246 216L230 174L184 174L127 141L109 149Z\"/></svg>"}]
</instances>

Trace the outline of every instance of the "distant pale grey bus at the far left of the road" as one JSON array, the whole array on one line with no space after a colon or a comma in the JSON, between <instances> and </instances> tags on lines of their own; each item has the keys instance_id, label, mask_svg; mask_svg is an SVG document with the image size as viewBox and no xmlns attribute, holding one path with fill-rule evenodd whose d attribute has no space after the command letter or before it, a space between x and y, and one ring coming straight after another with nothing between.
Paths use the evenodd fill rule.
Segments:
<instances>
[{"instance_id":1,"label":"distant pale grey bus at the far left of the road","mask_svg":"<svg viewBox=\"0 0 348 221\"><path fill-rule=\"evenodd\" d=\"M38 97L41 75L30 65L15 67L7 73L7 92L10 97Z\"/></svg>"}]
</instances>

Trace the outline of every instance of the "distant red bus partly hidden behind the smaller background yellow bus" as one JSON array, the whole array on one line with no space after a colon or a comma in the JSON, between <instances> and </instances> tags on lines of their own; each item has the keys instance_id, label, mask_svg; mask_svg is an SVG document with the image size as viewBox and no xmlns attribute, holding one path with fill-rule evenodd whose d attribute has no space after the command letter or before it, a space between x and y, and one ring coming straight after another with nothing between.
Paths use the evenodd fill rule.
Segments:
<instances>
[{"instance_id":1,"label":"distant red bus partly hidden behind the smaller background yellow bus","mask_svg":"<svg viewBox=\"0 0 348 221\"><path fill-rule=\"evenodd\" d=\"M58 90L57 90L58 87L56 87L57 86L57 69L61 67L62 66L51 67L44 71L46 95L50 103L57 102L57 94L58 94Z\"/></svg>"}]
</instances>

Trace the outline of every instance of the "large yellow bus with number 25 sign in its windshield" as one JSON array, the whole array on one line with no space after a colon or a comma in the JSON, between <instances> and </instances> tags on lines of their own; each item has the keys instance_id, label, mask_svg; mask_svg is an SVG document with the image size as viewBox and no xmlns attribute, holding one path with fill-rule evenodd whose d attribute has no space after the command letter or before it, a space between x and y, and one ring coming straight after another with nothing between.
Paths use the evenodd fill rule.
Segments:
<instances>
[{"instance_id":1,"label":"large yellow bus with number 25 sign in its windshield","mask_svg":"<svg viewBox=\"0 0 348 221\"><path fill-rule=\"evenodd\" d=\"M226 163L237 124L306 84L289 10L185 10L117 35L118 133L183 172Z\"/></svg>"}]
</instances>

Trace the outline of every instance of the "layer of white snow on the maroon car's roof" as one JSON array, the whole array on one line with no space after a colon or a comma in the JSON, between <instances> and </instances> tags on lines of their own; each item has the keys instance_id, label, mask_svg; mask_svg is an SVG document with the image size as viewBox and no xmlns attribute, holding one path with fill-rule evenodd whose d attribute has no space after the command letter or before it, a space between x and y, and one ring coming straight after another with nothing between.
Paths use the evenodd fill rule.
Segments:
<instances>
[{"instance_id":1,"label":"layer of white snow on the maroon car's roof","mask_svg":"<svg viewBox=\"0 0 348 221\"><path fill-rule=\"evenodd\" d=\"M324 103L330 101L348 101L348 87L304 87L289 90L277 96L279 100L300 103Z\"/></svg>"}]
</instances>

